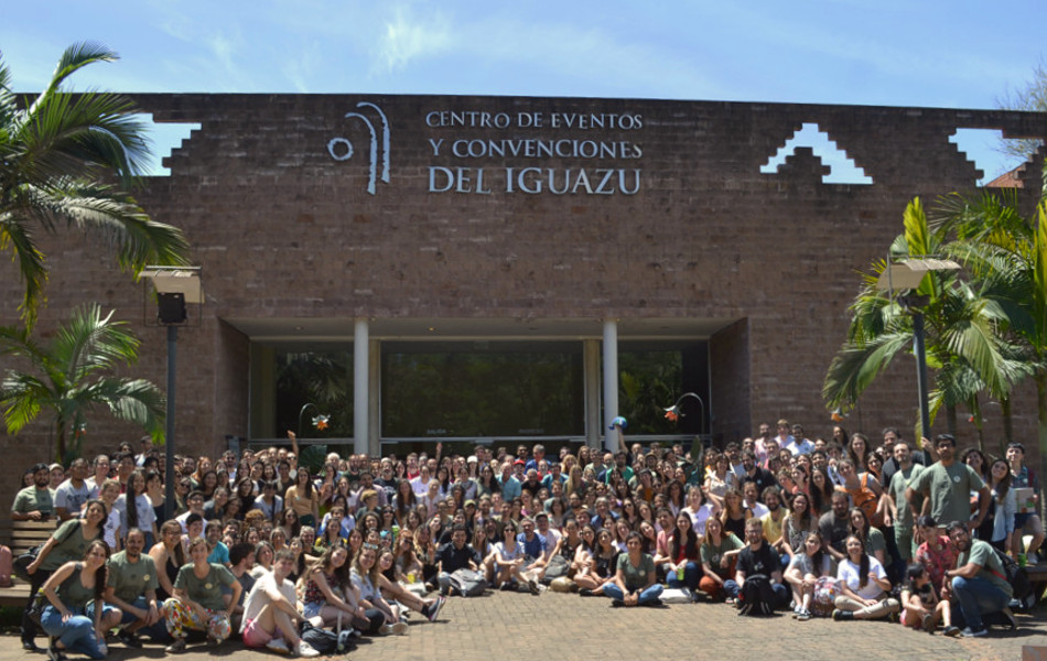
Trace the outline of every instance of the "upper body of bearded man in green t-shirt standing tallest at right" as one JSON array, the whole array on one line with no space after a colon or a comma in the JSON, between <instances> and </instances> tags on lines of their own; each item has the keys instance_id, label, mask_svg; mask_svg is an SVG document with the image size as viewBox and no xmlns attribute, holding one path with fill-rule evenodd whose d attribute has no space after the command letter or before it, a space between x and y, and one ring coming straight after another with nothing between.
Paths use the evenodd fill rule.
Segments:
<instances>
[{"instance_id":1,"label":"upper body of bearded man in green t-shirt standing tallest at right","mask_svg":"<svg viewBox=\"0 0 1047 661\"><path fill-rule=\"evenodd\" d=\"M938 462L920 473L916 483L905 490L911 506L917 494L924 496L922 514L936 521L964 521L976 529L989 510L990 491L978 473L967 464L957 462L957 442L950 434L935 437ZM978 491L979 509L971 521L971 492Z\"/></svg>"}]
</instances>

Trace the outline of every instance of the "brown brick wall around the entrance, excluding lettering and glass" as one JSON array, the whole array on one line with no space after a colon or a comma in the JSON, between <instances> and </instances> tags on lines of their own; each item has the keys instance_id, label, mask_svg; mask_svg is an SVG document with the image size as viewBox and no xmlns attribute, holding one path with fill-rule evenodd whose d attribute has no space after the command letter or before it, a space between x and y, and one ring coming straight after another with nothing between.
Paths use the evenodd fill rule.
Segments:
<instances>
[{"instance_id":1,"label":"brown brick wall around the entrance, excluding lettering and glass","mask_svg":"<svg viewBox=\"0 0 1047 661\"><path fill-rule=\"evenodd\" d=\"M202 124L168 159L172 175L150 180L140 194L154 218L185 230L203 267L205 317L180 334L177 372L177 437L199 452L247 432L248 338L223 321L237 318L344 318L349 335L357 316L724 319L711 339L714 432L736 437L758 421L786 416L823 433L821 383L843 340L854 271L884 254L914 195L929 203L974 185L973 164L949 136L958 127L1047 136L1043 116L951 109L429 96L138 99L159 121ZM369 133L345 115L366 113L379 145L381 124L360 101L379 106L390 127L390 181L379 178L374 195L366 191ZM429 111L444 109L540 112L547 121L571 112L641 116L643 128L427 126ZM874 183L823 184L824 164L803 150L778 173L760 173L806 122L818 123ZM353 158L331 156L334 138L353 143ZM643 156L457 159L434 155L430 142L526 138L626 141ZM431 166L484 167L493 191L428 192ZM635 195L506 193L496 171L527 166L560 175L620 167L626 183L640 169L641 183ZM80 300L117 307L141 330L136 373L162 384L163 330L141 327L141 286L117 272L100 242L48 237L45 249L53 272L41 328ZM17 316L19 292L10 263L0 264L4 322ZM910 429L911 365L898 362L863 398L853 423ZM1028 393L1015 412L1019 433L1032 437ZM122 433L106 426L97 443ZM4 440L3 447L20 448L12 474L40 458L45 437Z\"/></svg>"}]
</instances>

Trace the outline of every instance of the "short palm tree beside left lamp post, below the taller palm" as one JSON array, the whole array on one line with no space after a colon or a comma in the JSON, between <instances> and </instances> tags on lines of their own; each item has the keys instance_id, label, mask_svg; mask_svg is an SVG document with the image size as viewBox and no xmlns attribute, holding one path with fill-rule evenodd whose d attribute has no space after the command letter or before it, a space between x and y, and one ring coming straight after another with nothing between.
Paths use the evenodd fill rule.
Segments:
<instances>
[{"instance_id":1,"label":"short palm tree beside left lamp post, below the taller palm","mask_svg":"<svg viewBox=\"0 0 1047 661\"><path fill-rule=\"evenodd\" d=\"M154 441L163 438L164 398L143 379L115 377L119 364L138 359L139 340L123 322L105 317L97 304L74 311L50 346L41 346L24 328L0 327L0 356L13 356L31 371L7 370L0 381L0 407L8 433L18 434L41 412L51 414L55 456L68 463L79 455L88 415L105 407L120 419L141 425Z\"/></svg>"}]
</instances>

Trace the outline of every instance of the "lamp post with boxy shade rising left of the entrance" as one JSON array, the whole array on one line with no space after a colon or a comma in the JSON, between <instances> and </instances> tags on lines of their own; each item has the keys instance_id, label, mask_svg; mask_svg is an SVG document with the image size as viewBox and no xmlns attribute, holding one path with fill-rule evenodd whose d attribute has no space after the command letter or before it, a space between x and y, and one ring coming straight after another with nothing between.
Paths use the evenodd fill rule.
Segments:
<instances>
[{"instance_id":1,"label":"lamp post with boxy shade rising left of the entrance","mask_svg":"<svg viewBox=\"0 0 1047 661\"><path fill-rule=\"evenodd\" d=\"M156 293L156 324L168 327L168 411L164 421L164 520L174 517L174 412L175 373L177 371L179 326L188 321L186 304L204 304L204 286L199 267L145 267L141 277L151 282ZM148 297L148 294L147 294ZM148 318L148 316L147 316Z\"/></svg>"}]
</instances>

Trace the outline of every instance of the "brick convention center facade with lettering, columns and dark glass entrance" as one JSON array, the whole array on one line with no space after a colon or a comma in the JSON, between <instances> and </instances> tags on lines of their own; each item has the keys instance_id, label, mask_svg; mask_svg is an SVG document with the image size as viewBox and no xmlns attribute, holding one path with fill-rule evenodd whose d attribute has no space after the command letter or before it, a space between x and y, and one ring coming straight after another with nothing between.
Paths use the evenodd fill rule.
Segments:
<instances>
[{"instance_id":1,"label":"brick convention center facade with lettering, columns and dark glass entrance","mask_svg":"<svg viewBox=\"0 0 1047 661\"><path fill-rule=\"evenodd\" d=\"M822 379L856 271L885 254L914 196L932 204L980 176L950 138L1047 136L1043 116L929 108L136 98L155 121L199 124L139 199L184 229L202 267L206 304L179 339L175 437L204 454L229 435L265 442L300 426L371 453L438 440L595 445L617 414L650 437L723 442L778 418L823 434ZM832 170L853 182L827 182L821 148L787 144L805 127L833 141ZM41 327L80 301L114 307L140 326L136 373L163 383L164 336L142 285L83 237L56 238L47 254ZM13 319L19 283L0 272ZM848 426L913 429L913 371L893 366ZM686 391L701 404L661 421L655 404ZM1015 412L1032 432L1035 407ZM309 425L321 413L324 433Z\"/></svg>"}]
</instances>

